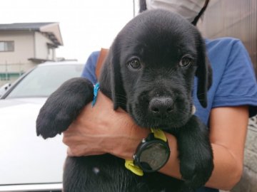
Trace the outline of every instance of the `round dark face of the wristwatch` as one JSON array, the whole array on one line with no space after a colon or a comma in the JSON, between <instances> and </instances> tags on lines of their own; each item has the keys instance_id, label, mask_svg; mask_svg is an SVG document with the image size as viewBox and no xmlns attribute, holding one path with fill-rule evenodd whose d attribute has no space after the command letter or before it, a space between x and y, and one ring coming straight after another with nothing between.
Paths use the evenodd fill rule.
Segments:
<instances>
[{"instance_id":1,"label":"round dark face of the wristwatch","mask_svg":"<svg viewBox=\"0 0 257 192\"><path fill-rule=\"evenodd\" d=\"M157 171L166 164L169 157L169 149L167 144L162 142L148 143L143 148L139 156L139 162L143 171Z\"/></svg>"}]
</instances>

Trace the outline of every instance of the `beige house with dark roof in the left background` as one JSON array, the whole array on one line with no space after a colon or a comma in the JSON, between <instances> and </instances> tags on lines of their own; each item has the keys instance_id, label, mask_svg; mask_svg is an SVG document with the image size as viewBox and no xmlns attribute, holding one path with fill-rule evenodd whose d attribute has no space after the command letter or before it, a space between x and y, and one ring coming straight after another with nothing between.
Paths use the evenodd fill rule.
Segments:
<instances>
[{"instance_id":1,"label":"beige house with dark roof in the left background","mask_svg":"<svg viewBox=\"0 0 257 192\"><path fill-rule=\"evenodd\" d=\"M36 64L56 60L59 46L63 46L59 23L0 24L0 85Z\"/></svg>"}]
</instances>

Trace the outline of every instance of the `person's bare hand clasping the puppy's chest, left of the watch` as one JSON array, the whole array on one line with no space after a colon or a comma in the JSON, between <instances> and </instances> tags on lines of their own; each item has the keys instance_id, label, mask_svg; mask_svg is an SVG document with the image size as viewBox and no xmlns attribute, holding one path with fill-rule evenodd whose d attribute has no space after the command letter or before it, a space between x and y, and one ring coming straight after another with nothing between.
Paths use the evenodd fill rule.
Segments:
<instances>
[{"instance_id":1,"label":"person's bare hand clasping the puppy's chest, left of the watch","mask_svg":"<svg viewBox=\"0 0 257 192\"><path fill-rule=\"evenodd\" d=\"M69 146L69 156L109 153L132 159L136 146L148 132L136 126L124 110L114 111L111 100L99 92L94 107L91 103L86 105L64 132L63 142Z\"/></svg>"}]
</instances>

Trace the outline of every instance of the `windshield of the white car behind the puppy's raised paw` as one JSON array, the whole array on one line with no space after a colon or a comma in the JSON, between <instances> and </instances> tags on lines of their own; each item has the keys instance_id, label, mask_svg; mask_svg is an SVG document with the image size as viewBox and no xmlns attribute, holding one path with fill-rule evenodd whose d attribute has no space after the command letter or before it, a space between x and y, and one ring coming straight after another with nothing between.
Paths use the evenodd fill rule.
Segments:
<instances>
[{"instance_id":1,"label":"windshield of the white car behind the puppy's raised paw","mask_svg":"<svg viewBox=\"0 0 257 192\"><path fill-rule=\"evenodd\" d=\"M6 98L49 97L64 81L81 75L83 65L46 65L24 77Z\"/></svg>"}]
</instances>

